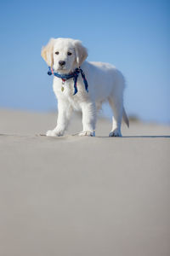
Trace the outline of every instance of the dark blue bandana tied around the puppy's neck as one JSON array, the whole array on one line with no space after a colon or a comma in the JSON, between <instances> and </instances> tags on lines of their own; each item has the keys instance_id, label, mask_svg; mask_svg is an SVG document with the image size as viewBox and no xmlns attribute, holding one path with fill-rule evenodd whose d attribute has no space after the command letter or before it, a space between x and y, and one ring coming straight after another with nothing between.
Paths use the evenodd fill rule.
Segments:
<instances>
[{"instance_id":1,"label":"dark blue bandana tied around the puppy's neck","mask_svg":"<svg viewBox=\"0 0 170 256\"><path fill-rule=\"evenodd\" d=\"M65 83L65 81L68 79L73 79L73 81L74 81L74 94L73 95L77 94L77 91L78 91L77 90L77 79L78 79L79 73L82 74L82 80L83 80L85 89L88 92L88 81L80 67L76 68L73 73L69 73L69 74L56 73L56 72L54 72L54 69L52 67L48 67L48 75L50 76L53 74L55 77L62 79L63 83Z\"/></svg>"}]
</instances>

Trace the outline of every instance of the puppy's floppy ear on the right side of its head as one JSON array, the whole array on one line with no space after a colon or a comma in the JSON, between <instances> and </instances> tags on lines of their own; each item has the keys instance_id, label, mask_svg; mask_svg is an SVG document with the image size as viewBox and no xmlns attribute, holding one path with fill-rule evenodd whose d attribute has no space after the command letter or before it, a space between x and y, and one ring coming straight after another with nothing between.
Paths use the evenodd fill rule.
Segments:
<instances>
[{"instance_id":1,"label":"puppy's floppy ear on the right side of its head","mask_svg":"<svg viewBox=\"0 0 170 256\"><path fill-rule=\"evenodd\" d=\"M75 40L75 51L77 66L80 67L82 65L82 62L85 61L88 57L88 50L84 46L82 46L81 41Z\"/></svg>"}]
</instances>

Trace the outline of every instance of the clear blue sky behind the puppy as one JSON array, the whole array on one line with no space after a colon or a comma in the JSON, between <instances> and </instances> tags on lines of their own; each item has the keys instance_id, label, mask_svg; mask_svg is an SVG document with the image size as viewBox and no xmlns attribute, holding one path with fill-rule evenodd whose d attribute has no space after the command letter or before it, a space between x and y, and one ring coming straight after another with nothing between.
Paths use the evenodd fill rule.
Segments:
<instances>
[{"instance_id":1,"label":"clear blue sky behind the puppy","mask_svg":"<svg viewBox=\"0 0 170 256\"><path fill-rule=\"evenodd\" d=\"M65 37L82 40L88 61L122 71L127 113L170 123L169 17L165 0L0 0L0 108L56 109L40 52L49 38Z\"/></svg>"}]
</instances>

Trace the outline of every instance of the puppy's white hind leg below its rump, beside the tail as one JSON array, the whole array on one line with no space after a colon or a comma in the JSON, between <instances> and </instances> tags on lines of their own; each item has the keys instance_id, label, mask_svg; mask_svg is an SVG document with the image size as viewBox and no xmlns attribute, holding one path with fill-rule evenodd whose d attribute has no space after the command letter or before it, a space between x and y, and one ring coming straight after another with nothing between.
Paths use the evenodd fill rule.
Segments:
<instances>
[{"instance_id":1,"label":"puppy's white hind leg below its rump, beside the tail","mask_svg":"<svg viewBox=\"0 0 170 256\"><path fill-rule=\"evenodd\" d=\"M121 124L122 124L122 110L123 110L123 101L122 97L109 97L109 103L113 112L112 116L112 129L109 134L109 137L122 137L121 133Z\"/></svg>"}]
</instances>

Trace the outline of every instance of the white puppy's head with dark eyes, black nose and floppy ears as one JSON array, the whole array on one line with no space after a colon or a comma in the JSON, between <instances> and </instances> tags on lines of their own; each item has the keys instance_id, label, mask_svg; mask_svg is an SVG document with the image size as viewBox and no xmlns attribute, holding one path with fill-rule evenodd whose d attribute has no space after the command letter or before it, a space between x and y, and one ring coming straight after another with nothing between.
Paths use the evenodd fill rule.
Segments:
<instances>
[{"instance_id":1,"label":"white puppy's head with dark eyes, black nose and floppy ears","mask_svg":"<svg viewBox=\"0 0 170 256\"><path fill-rule=\"evenodd\" d=\"M42 48L42 58L59 73L71 73L88 57L81 41L70 38L51 38Z\"/></svg>"}]
</instances>

